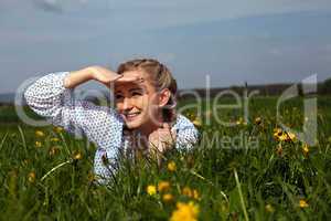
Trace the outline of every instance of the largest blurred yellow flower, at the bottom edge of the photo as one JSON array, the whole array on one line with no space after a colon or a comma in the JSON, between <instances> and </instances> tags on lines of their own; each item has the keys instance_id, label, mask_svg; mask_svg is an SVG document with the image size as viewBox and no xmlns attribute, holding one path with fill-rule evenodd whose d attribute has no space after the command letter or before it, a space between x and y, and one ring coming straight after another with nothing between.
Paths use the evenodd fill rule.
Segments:
<instances>
[{"instance_id":1,"label":"largest blurred yellow flower, at the bottom edge of the photo","mask_svg":"<svg viewBox=\"0 0 331 221\"><path fill-rule=\"evenodd\" d=\"M194 202L177 203L177 210L172 212L170 221L196 221L199 214L199 206Z\"/></svg>"}]
</instances>

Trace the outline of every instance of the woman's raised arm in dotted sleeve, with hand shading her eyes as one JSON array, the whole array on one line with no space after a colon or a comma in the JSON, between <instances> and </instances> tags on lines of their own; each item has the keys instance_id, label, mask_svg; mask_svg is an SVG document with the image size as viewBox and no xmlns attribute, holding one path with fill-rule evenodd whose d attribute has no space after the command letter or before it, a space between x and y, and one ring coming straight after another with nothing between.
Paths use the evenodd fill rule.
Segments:
<instances>
[{"instance_id":1,"label":"woman's raised arm in dotted sleeve, with hand shading her eyes","mask_svg":"<svg viewBox=\"0 0 331 221\"><path fill-rule=\"evenodd\" d=\"M62 126L72 134L84 134L98 146L94 169L98 177L109 177L110 166L115 162L121 145L122 119L114 109L97 106L88 101L75 98L74 88L87 81L95 80L106 86L124 78L107 69L86 67L74 72L58 72L44 75L30 85L24 97L36 114L46 117L53 125Z\"/></svg>"}]
</instances>

